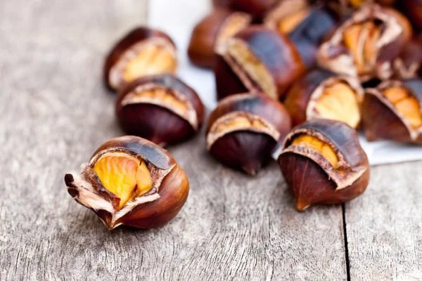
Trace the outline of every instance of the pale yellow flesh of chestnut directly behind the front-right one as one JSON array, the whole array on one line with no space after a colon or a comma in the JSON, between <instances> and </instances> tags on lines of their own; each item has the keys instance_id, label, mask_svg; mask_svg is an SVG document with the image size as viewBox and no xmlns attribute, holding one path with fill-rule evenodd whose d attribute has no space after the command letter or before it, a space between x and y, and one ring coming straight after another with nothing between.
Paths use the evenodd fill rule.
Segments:
<instances>
[{"instance_id":1,"label":"pale yellow flesh of chestnut directly behind the front-right one","mask_svg":"<svg viewBox=\"0 0 422 281\"><path fill-rule=\"evenodd\" d=\"M315 110L324 119L342 121L352 128L357 128L361 119L356 93L342 82L324 90L316 102Z\"/></svg>"}]
</instances>

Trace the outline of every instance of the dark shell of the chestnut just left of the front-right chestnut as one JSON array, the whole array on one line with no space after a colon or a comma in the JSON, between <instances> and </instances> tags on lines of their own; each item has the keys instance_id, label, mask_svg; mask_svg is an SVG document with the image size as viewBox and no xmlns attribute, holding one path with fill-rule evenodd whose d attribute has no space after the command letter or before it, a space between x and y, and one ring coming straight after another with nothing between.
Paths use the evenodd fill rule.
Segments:
<instances>
[{"instance_id":1,"label":"dark shell of the chestnut just left of the front-right chestnut","mask_svg":"<svg viewBox=\"0 0 422 281\"><path fill-rule=\"evenodd\" d=\"M208 142L209 150L226 166L255 175L271 159L271 152L290 130L290 117L283 105L267 96L258 93L237 94L222 100L211 113L207 123L207 139L210 139L210 129L215 122L236 112L247 112L269 122L278 132L278 138L274 139L271 133L247 128L226 131L212 143Z\"/></svg>"}]
</instances>

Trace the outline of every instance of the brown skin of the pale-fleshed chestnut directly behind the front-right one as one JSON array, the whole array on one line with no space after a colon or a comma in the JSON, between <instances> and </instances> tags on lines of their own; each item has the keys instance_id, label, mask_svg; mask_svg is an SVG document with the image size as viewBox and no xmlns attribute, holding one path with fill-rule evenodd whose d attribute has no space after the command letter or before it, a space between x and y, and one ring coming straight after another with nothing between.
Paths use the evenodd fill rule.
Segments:
<instances>
[{"instance_id":1,"label":"brown skin of the pale-fleshed chestnut directly behind the front-right one","mask_svg":"<svg viewBox=\"0 0 422 281\"><path fill-rule=\"evenodd\" d=\"M336 75L325 70L312 70L293 84L284 100L284 105L292 118L293 126L298 126L309 119L324 118L320 113L314 111L318 98L316 96L321 95L324 90L336 83L349 86L356 95L358 105L362 103L364 89L355 77ZM359 108L357 108L357 111L359 112ZM354 127L356 128L358 125L356 124Z\"/></svg>"}]
</instances>

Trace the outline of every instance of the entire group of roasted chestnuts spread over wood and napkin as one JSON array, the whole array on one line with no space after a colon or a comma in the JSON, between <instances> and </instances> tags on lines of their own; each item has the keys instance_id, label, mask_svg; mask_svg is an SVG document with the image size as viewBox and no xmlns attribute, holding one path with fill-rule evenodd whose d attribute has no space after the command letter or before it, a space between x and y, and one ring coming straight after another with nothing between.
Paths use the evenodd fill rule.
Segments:
<instances>
[{"instance_id":1,"label":"entire group of roasted chestnuts spread over wood and napkin","mask_svg":"<svg viewBox=\"0 0 422 281\"><path fill-rule=\"evenodd\" d=\"M101 145L65 183L108 228L177 215L188 178L162 147L204 123L206 149L232 169L253 176L276 157L300 211L364 192L370 168L357 130L422 144L422 1L212 3L188 46L191 63L215 72L219 104L207 119L175 76L177 49L164 32L138 27L106 58L117 119L133 136Z\"/></svg>"}]
</instances>

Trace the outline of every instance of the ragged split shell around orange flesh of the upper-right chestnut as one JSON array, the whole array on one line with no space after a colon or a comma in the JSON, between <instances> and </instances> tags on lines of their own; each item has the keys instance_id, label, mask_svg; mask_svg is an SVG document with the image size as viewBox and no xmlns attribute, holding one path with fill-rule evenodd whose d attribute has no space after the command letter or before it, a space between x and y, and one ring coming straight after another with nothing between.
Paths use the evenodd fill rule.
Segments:
<instances>
[{"instance_id":1,"label":"ragged split shell around orange flesh of the upper-right chestnut","mask_svg":"<svg viewBox=\"0 0 422 281\"><path fill-rule=\"evenodd\" d=\"M353 56L343 44L343 33L347 27L367 20L383 24L381 38L377 41L377 44L381 44L382 41L382 45L378 47L376 65L373 69L359 74L357 67L354 65ZM396 32L396 30L399 30L397 27L401 30L400 32ZM392 8L368 4L354 13L338 28L331 39L320 46L317 60L319 65L328 70L355 77L359 76L361 81L369 81L373 78L389 79L393 74L392 60L399 56L411 37L411 26L404 15Z\"/></svg>"}]
</instances>

